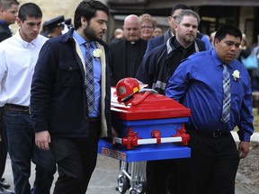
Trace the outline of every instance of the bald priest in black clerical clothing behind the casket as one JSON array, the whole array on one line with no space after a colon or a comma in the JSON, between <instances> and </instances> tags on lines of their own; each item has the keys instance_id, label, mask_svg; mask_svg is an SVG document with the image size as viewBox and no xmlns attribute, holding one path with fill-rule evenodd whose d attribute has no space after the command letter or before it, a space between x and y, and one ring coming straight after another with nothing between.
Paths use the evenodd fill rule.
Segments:
<instances>
[{"instance_id":1,"label":"bald priest in black clerical clothing behind the casket","mask_svg":"<svg viewBox=\"0 0 259 194\"><path fill-rule=\"evenodd\" d=\"M135 77L146 52L147 41L140 39L139 17L130 14L123 24L124 40L110 45L112 85L122 78Z\"/></svg>"}]
</instances>

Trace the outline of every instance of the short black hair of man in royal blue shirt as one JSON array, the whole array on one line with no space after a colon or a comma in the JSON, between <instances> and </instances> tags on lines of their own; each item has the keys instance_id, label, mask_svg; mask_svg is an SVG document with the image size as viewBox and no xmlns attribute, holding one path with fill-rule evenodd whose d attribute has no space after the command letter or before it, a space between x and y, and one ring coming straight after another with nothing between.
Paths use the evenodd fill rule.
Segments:
<instances>
[{"instance_id":1,"label":"short black hair of man in royal blue shirt","mask_svg":"<svg viewBox=\"0 0 259 194\"><path fill-rule=\"evenodd\" d=\"M215 39L221 41L227 36L227 34L234 37L239 37L240 40L242 40L242 32L237 28L237 26L232 24L224 24L220 26L215 34Z\"/></svg>"}]
</instances>

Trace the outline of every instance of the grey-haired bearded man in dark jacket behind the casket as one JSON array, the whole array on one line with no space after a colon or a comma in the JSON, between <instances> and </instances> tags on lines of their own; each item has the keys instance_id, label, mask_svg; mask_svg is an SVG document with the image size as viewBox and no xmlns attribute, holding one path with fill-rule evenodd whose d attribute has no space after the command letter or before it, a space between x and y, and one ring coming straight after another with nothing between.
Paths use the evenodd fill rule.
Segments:
<instances>
[{"instance_id":1,"label":"grey-haired bearded man in dark jacket behind the casket","mask_svg":"<svg viewBox=\"0 0 259 194\"><path fill-rule=\"evenodd\" d=\"M165 94L168 79L181 61L194 52L205 50L202 40L196 39L200 16L192 10L183 10L175 18L175 36L166 44L153 49L139 66L136 78L158 93ZM173 171L174 190L177 190L177 160L147 162L147 194L165 194L166 182ZM176 193L176 192L175 192Z\"/></svg>"}]
</instances>

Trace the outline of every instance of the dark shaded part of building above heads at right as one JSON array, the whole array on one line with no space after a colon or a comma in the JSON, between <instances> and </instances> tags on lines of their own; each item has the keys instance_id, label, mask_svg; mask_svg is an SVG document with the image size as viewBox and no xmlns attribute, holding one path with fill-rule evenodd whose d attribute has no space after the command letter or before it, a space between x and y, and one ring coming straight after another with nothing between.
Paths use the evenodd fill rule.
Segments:
<instances>
[{"instance_id":1,"label":"dark shaded part of building above heads at right","mask_svg":"<svg viewBox=\"0 0 259 194\"><path fill-rule=\"evenodd\" d=\"M149 13L153 16L168 17L174 4L187 4L199 13L199 31L210 35L224 23L237 25L246 34L250 45L257 42L259 34L258 0L107 0L113 25L121 25L118 15ZM113 20L113 21L112 21ZM159 22L158 22L159 23ZM111 33L111 31L109 31Z\"/></svg>"}]
</instances>

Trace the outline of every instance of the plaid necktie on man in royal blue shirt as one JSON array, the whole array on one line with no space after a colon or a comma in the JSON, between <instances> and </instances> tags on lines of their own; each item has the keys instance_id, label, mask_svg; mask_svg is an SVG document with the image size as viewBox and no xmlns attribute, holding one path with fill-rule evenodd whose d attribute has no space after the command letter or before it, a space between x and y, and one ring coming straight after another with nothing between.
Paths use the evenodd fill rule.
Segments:
<instances>
[{"instance_id":1,"label":"plaid necktie on man in royal blue shirt","mask_svg":"<svg viewBox=\"0 0 259 194\"><path fill-rule=\"evenodd\" d=\"M222 120L226 123L230 119L230 75L228 72L228 66L223 64L223 108L222 108Z\"/></svg>"}]
</instances>

